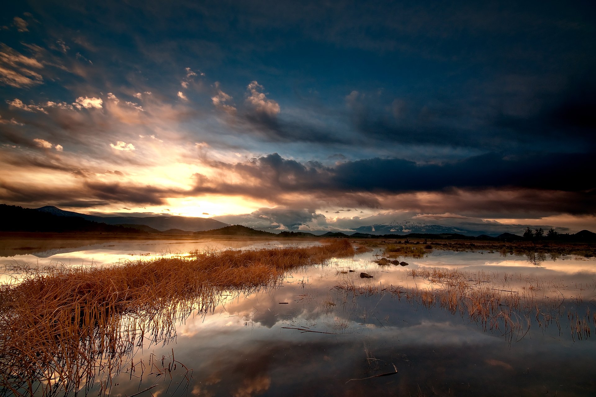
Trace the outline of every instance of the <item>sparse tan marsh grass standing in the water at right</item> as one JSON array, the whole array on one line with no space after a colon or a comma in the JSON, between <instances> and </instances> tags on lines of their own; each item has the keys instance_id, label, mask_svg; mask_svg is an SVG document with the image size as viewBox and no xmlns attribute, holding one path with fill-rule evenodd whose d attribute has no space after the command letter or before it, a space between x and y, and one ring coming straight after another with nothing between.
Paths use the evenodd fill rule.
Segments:
<instances>
[{"instance_id":1,"label":"sparse tan marsh grass standing in the water at right","mask_svg":"<svg viewBox=\"0 0 596 397\"><path fill-rule=\"evenodd\" d=\"M509 343L526 336L532 324L541 330L554 324L561 335L561 319L564 317L567 317L573 340L587 339L591 336L591 323L596 327L596 314L591 314L589 307L585 313L580 312L584 307L581 306L581 295L575 299L565 298L560 290L569 290L569 286L557 285L554 280L545 283L521 274L505 273L499 277L493 272L424 267L406 270L406 276L424 280L427 286L356 285L353 280L341 280L334 290L353 296L389 293L399 301L404 299L412 305L427 309L439 307L460 315L467 322L478 324L485 332L505 336ZM510 287L508 282L511 280L524 281L526 286ZM585 287L588 285L579 286L578 291L581 292ZM544 292L545 289L560 295L555 293L541 298L538 292ZM565 302L567 305L564 305Z\"/></svg>"}]
</instances>

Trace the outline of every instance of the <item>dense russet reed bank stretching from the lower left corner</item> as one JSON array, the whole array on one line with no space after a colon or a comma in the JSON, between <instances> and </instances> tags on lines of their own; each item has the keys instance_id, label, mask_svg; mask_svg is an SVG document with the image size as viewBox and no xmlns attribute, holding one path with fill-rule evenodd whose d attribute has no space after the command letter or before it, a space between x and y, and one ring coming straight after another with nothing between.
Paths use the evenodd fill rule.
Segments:
<instances>
[{"instance_id":1,"label":"dense russet reed bank stretching from the lower left corner","mask_svg":"<svg viewBox=\"0 0 596 397\"><path fill-rule=\"evenodd\" d=\"M349 241L331 240L301 248L194 252L104 268L16 269L21 277L0 286L1 394L86 394L98 374L100 395L109 393L120 373L131 379L156 374L155 361L132 361L135 350L170 342L178 321L195 311L213 311L223 293L274 287L288 270L354 253ZM157 375L171 379L176 367L184 368L172 352ZM188 379L191 370L184 369Z\"/></svg>"}]
</instances>

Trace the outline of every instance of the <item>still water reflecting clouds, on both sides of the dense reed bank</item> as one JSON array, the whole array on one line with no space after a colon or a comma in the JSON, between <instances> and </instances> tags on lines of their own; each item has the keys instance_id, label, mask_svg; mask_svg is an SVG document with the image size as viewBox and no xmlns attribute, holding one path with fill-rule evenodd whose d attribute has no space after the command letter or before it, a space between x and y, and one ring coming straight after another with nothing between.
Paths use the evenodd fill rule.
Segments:
<instances>
[{"instance_id":1,"label":"still water reflecting clouds, on both sides of the dense reed bank","mask_svg":"<svg viewBox=\"0 0 596 397\"><path fill-rule=\"evenodd\" d=\"M252 249L313 244L305 240L176 239L3 242L0 263L104 266L126 260L187 255L195 249ZM20 246L19 246L20 245ZM374 262L381 248L288 273L281 285L249 295L222 294L213 312L193 312L175 337L150 338L127 357L120 374L98 373L89 393L195 396L596 395L596 261L566 255L539 266L498 252L433 250ZM440 289L412 270L457 270L492 290L516 291L527 307L519 329L485 329L460 312L426 307L387 286ZM349 270L354 270L350 272ZM363 279L364 272L373 276ZM410 272L410 273L408 273ZM4 275L3 282L10 277ZM474 278L475 277L475 278ZM356 294L337 285L368 288ZM362 289L360 289L362 290ZM558 318L547 318L547 312ZM573 333L569 313L587 318L591 336ZM578 318L579 318L578 317ZM592 320L592 318L594 320ZM162 360L175 360L171 377ZM164 359L165 358L165 359ZM156 369L143 368L153 365ZM162 368L162 369L160 369ZM173 364L172 364L173 368ZM187 371L189 370L189 371ZM162 372L159 372L162 371ZM142 374L142 379L141 379ZM188 379L192 374L190 382ZM384 376L379 376L383 375Z\"/></svg>"}]
</instances>

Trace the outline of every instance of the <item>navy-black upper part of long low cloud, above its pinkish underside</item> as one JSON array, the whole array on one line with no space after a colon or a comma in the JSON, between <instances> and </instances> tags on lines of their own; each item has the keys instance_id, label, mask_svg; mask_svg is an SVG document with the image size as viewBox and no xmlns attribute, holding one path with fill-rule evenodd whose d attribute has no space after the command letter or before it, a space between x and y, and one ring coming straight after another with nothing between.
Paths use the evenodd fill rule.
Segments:
<instances>
[{"instance_id":1,"label":"navy-black upper part of long low cloud, above its pinkish underside","mask_svg":"<svg viewBox=\"0 0 596 397\"><path fill-rule=\"evenodd\" d=\"M195 192L243 192L266 196L263 188L277 192L402 193L450 187L514 187L575 192L596 187L594 180L581 176L584 171L592 170L593 157L589 154L504 156L491 153L441 165L372 158L325 167L317 162L302 164L286 160L274 153L245 163L213 162L211 165L254 180L256 185L217 182L198 175Z\"/></svg>"}]
</instances>

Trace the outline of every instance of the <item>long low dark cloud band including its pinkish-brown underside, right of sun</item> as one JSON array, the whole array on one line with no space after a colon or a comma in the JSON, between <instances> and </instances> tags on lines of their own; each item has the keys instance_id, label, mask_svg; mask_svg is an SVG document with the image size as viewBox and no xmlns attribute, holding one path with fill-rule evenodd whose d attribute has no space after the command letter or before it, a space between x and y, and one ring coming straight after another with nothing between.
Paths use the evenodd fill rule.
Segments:
<instances>
[{"instance_id":1,"label":"long low dark cloud band including its pinkish-brown underside, right of sun","mask_svg":"<svg viewBox=\"0 0 596 397\"><path fill-rule=\"evenodd\" d=\"M592 157L586 154L487 154L442 165L373 158L326 167L275 153L244 163L210 165L222 171L221 177L197 174L194 195L245 195L304 207L321 201L430 213L460 211L495 218L504 213L596 213L596 186L583 176L592 170ZM231 182L229 174L244 182ZM417 192L437 196L428 199Z\"/></svg>"}]
</instances>

